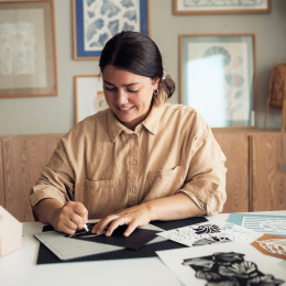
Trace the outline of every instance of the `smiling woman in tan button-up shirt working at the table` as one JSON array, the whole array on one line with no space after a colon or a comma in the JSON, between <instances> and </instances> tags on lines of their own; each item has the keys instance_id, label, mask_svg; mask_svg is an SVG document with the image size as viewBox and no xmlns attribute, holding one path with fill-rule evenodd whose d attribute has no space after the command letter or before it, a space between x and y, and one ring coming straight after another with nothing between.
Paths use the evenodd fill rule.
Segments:
<instances>
[{"instance_id":1,"label":"smiling woman in tan button-up shirt working at the table","mask_svg":"<svg viewBox=\"0 0 286 286\"><path fill-rule=\"evenodd\" d=\"M92 232L111 235L128 224L128 237L152 220L220 212L226 157L194 109L166 103L175 85L156 44L121 32L106 44L99 66L109 109L59 141L31 191L38 219L72 234L98 218Z\"/></svg>"}]
</instances>

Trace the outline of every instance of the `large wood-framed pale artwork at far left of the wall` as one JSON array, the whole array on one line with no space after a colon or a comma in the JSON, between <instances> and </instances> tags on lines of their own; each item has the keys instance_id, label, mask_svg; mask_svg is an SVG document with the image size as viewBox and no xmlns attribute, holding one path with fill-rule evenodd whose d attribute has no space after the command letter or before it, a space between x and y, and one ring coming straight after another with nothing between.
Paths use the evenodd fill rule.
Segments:
<instances>
[{"instance_id":1,"label":"large wood-framed pale artwork at far left of the wall","mask_svg":"<svg viewBox=\"0 0 286 286\"><path fill-rule=\"evenodd\" d=\"M0 98L57 95L54 0L0 2Z\"/></svg>"}]
</instances>

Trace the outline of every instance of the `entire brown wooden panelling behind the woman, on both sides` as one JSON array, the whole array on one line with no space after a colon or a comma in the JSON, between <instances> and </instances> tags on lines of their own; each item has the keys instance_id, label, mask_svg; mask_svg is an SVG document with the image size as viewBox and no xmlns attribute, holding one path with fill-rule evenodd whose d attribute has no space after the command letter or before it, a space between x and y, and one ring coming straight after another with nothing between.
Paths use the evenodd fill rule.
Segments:
<instances>
[{"instance_id":1,"label":"entire brown wooden panelling behind the woman, on both sides","mask_svg":"<svg viewBox=\"0 0 286 286\"><path fill-rule=\"evenodd\" d=\"M213 131L227 156L223 212L286 209L286 133ZM0 138L0 205L33 221L29 194L63 134Z\"/></svg>"}]
</instances>

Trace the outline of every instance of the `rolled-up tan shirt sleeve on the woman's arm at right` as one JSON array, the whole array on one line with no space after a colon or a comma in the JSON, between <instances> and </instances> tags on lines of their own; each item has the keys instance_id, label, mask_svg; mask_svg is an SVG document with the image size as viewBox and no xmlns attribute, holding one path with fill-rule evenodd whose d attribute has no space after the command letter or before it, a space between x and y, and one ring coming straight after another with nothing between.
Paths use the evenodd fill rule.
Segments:
<instances>
[{"instance_id":1,"label":"rolled-up tan shirt sleeve on the woman's arm at right","mask_svg":"<svg viewBox=\"0 0 286 286\"><path fill-rule=\"evenodd\" d=\"M207 215L219 213L227 200L226 156L209 128L195 141L186 184L178 193L189 196Z\"/></svg>"}]
</instances>

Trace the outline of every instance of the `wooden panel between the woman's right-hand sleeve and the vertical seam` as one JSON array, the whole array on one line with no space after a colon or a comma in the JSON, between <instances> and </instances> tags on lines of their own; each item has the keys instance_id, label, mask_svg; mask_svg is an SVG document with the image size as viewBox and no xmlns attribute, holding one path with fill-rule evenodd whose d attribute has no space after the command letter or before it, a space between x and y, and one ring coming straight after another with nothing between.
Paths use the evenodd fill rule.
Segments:
<instances>
[{"instance_id":1,"label":"wooden panel between the woman's right-hand sleeve and the vertical seam","mask_svg":"<svg viewBox=\"0 0 286 286\"><path fill-rule=\"evenodd\" d=\"M227 162L227 202L223 212L249 211L249 138L246 133L213 132Z\"/></svg>"}]
</instances>

